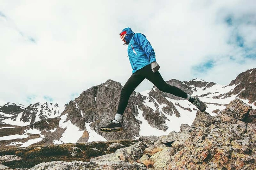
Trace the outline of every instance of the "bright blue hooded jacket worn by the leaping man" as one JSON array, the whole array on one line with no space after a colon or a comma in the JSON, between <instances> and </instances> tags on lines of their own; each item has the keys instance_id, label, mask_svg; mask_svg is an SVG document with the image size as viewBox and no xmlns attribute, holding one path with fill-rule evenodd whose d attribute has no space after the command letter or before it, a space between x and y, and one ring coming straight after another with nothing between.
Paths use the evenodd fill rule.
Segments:
<instances>
[{"instance_id":1,"label":"bright blue hooded jacket worn by the leaping man","mask_svg":"<svg viewBox=\"0 0 256 170\"><path fill-rule=\"evenodd\" d=\"M127 32L124 40L129 43L127 50L133 73L156 61L154 48L144 34L135 34L130 28L124 28L123 31Z\"/></svg>"}]
</instances>

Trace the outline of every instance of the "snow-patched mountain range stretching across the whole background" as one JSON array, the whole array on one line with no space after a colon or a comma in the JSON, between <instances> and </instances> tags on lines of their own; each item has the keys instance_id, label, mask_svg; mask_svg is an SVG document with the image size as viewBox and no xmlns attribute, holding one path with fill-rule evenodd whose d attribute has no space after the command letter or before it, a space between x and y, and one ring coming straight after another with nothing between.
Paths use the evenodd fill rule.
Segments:
<instances>
[{"instance_id":1,"label":"snow-patched mountain range stretching across the whole background","mask_svg":"<svg viewBox=\"0 0 256 170\"><path fill-rule=\"evenodd\" d=\"M167 83L198 96L212 116L235 98L256 108L256 68L239 74L228 85L201 79L184 82L172 79ZM62 113L52 103L36 103L26 108L7 103L0 107L0 147L167 135L179 131L181 124L191 125L196 117L197 108L193 104L153 87L131 95L123 117L124 131L101 132L99 128L114 118L121 89L119 82L108 80L83 91L65 105Z\"/></svg>"}]
</instances>

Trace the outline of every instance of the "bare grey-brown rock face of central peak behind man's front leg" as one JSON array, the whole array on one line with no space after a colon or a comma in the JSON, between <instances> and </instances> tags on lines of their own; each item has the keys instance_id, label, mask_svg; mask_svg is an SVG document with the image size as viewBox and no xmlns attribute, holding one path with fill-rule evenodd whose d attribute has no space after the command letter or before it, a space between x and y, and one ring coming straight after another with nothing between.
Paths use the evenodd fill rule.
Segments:
<instances>
[{"instance_id":1,"label":"bare grey-brown rock face of central peak behind man's front leg","mask_svg":"<svg viewBox=\"0 0 256 170\"><path fill-rule=\"evenodd\" d=\"M130 96L122 121L125 131L116 132L111 135L99 131L100 127L108 124L115 117L121 90L122 86L119 82L108 80L103 84L84 91L74 101L66 105L62 115L67 114L67 121L70 120L80 130L95 130L107 140L132 140L138 137L141 124L141 121L137 118L139 111L143 112L143 118L153 128L164 131L168 127L165 125L167 118L162 112L179 117L179 112L173 103L162 96L158 89L153 88L149 92L149 96L142 96L135 92ZM156 110L154 111L146 106L144 100L154 103ZM161 104L165 104L165 107L159 109ZM90 129L85 127L85 123L90 123Z\"/></svg>"}]
</instances>

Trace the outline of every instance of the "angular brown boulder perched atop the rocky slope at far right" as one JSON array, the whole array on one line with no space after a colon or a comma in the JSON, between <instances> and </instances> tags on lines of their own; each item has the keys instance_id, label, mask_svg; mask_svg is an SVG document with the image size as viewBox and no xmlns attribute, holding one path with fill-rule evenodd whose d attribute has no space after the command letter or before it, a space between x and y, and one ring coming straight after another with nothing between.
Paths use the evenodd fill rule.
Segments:
<instances>
[{"instance_id":1,"label":"angular brown boulder perched atop the rocky slope at far right","mask_svg":"<svg viewBox=\"0 0 256 170\"><path fill-rule=\"evenodd\" d=\"M248 116L251 108L251 106L236 98L235 100L231 101L226 109L222 110L220 114L228 114L234 118L243 120Z\"/></svg>"}]
</instances>

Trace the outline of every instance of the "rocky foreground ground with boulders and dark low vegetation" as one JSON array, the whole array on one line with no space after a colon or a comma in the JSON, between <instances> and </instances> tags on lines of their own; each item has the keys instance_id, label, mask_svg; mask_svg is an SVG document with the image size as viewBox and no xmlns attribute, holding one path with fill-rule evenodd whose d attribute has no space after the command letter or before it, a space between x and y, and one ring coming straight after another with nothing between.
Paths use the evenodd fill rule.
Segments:
<instances>
[{"instance_id":1,"label":"rocky foreground ground with boulders and dark low vegetation","mask_svg":"<svg viewBox=\"0 0 256 170\"><path fill-rule=\"evenodd\" d=\"M139 140L69 143L0 151L0 169L178 170L256 169L256 110L239 99L192 127Z\"/></svg>"}]
</instances>

